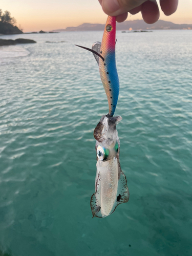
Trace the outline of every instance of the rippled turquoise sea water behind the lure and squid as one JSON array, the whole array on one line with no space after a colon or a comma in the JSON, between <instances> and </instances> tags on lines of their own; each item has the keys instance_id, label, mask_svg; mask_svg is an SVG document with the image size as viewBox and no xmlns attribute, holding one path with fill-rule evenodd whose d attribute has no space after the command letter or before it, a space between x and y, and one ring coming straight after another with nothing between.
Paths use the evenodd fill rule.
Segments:
<instances>
[{"instance_id":1,"label":"rippled turquoise sea water behind the lure and squid","mask_svg":"<svg viewBox=\"0 0 192 256\"><path fill-rule=\"evenodd\" d=\"M130 200L93 218L98 32L0 36L0 255L192 255L192 31L117 31Z\"/></svg>"}]
</instances>

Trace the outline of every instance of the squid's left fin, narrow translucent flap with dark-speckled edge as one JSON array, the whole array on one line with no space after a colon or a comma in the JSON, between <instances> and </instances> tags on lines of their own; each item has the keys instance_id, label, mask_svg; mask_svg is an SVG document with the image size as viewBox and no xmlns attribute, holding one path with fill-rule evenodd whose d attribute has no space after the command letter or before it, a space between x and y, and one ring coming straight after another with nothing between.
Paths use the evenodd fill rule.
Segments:
<instances>
[{"instance_id":1,"label":"squid's left fin, narrow translucent flap with dark-speckled edge","mask_svg":"<svg viewBox=\"0 0 192 256\"><path fill-rule=\"evenodd\" d=\"M102 218L101 214L101 200L100 200L100 193L101 193L101 180L100 180L100 173L98 174L97 182L95 185L95 194L91 197L91 210L93 217Z\"/></svg>"}]
</instances>

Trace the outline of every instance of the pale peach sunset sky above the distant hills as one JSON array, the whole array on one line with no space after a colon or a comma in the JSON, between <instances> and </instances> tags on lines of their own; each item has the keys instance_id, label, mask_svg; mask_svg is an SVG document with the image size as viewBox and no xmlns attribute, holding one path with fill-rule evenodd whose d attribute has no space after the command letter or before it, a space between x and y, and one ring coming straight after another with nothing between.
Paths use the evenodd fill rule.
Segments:
<instances>
[{"instance_id":1,"label":"pale peach sunset sky above the distant hills","mask_svg":"<svg viewBox=\"0 0 192 256\"><path fill-rule=\"evenodd\" d=\"M159 3L158 3L159 4ZM65 29L82 23L106 21L97 0L5 0L0 9L10 11L17 26L24 32ZM192 0L180 0L178 10L171 16L160 12L160 19L177 24L192 24ZM129 14L127 20L141 19L141 14Z\"/></svg>"}]
</instances>

